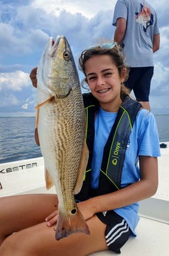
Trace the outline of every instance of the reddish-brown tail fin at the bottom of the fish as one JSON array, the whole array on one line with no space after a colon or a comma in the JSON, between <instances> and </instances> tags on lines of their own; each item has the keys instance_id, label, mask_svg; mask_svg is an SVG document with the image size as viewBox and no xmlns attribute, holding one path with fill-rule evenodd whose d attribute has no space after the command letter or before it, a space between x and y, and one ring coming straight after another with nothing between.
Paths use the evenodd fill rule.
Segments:
<instances>
[{"instance_id":1,"label":"reddish-brown tail fin at the bottom of the fish","mask_svg":"<svg viewBox=\"0 0 169 256\"><path fill-rule=\"evenodd\" d=\"M64 216L64 214L59 211L57 224L55 227L56 240L65 238L72 233L85 233L90 235L90 230L80 210L78 208L73 210L76 210L76 213L69 216Z\"/></svg>"}]
</instances>

